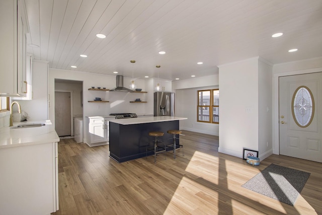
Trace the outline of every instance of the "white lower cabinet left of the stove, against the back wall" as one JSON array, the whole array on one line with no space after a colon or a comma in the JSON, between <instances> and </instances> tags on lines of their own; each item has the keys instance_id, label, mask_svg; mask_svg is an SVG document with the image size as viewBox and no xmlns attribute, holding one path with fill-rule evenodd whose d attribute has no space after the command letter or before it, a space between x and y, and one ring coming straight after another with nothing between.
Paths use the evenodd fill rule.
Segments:
<instances>
[{"instance_id":1,"label":"white lower cabinet left of the stove, against the back wall","mask_svg":"<svg viewBox=\"0 0 322 215\"><path fill-rule=\"evenodd\" d=\"M109 121L104 117L86 117L88 135L86 143L90 146L106 145L109 141Z\"/></svg>"}]
</instances>

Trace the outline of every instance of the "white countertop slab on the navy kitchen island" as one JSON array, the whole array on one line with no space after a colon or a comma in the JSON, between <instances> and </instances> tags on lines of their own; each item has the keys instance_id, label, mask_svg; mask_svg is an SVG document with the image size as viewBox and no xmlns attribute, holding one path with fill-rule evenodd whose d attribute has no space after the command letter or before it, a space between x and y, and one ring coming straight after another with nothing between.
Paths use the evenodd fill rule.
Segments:
<instances>
[{"instance_id":1,"label":"white countertop slab on the navy kitchen island","mask_svg":"<svg viewBox=\"0 0 322 215\"><path fill-rule=\"evenodd\" d=\"M166 121L176 121L188 119L185 117L176 117L176 116L147 116L147 117L138 117L138 118L126 118L126 119L111 119L110 122L115 122L121 125L133 125L133 124L142 124L150 122L166 122Z\"/></svg>"}]
</instances>

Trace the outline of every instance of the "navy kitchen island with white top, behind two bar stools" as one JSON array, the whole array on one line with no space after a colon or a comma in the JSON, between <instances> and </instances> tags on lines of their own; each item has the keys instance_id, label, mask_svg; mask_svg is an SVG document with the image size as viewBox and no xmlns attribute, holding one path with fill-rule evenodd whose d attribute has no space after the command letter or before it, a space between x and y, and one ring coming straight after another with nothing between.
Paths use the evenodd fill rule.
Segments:
<instances>
[{"instance_id":1,"label":"navy kitchen island with white top, behind two bar stools","mask_svg":"<svg viewBox=\"0 0 322 215\"><path fill-rule=\"evenodd\" d=\"M158 139L167 145L172 143L173 135L168 130L179 130L179 120L184 117L151 116L142 118L112 119L109 122L110 157L117 162L130 161L146 156L146 146L153 146L149 131L162 131ZM152 155L148 152L147 155Z\"/></svg>"}]
</instances>

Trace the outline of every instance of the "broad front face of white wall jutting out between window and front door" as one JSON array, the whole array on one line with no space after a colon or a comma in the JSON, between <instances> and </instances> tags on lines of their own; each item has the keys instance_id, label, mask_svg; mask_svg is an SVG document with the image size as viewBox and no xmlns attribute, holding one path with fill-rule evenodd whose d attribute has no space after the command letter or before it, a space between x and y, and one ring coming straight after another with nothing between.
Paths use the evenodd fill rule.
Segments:
<instances>
[{"instance_id":1,"label":"broad front face of white wall jutting out between window and front door","mask_svg":"<svg viewBox=\"0 0 322 215\"><path fill-rule=\"evenodd\" d=\"M258 57L219 66L221 153L243 157L258 150Z\"/></svg>"}]
</instances>

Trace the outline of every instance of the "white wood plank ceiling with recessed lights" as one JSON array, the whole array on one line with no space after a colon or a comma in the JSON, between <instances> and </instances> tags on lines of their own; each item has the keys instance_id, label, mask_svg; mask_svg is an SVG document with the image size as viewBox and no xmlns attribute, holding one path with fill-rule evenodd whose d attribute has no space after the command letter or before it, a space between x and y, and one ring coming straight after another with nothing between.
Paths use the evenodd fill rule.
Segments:
<instances>
[{"instance_id":1,"label":"white wood plank ceiling with recessed lights","mask_svg":"<svg viewBox=\"0 0 322 215\"><path fill-rule=\"evenodd\" d=\"M49 67L134 78L189 79L255 56L322 56L322 1L25 0L28 47ZM271 35L283 32L279 38ZM97 33L107 37L100 39ZM297 52L289 53L291 48ZM164 55L158 51L164 50ZM88 55L87 58L80 54ZM133 65L130 60L136 60ZM198 65L197 62L203 64ZM155 65L161 65L157 70ZM77 68L71 68L76 65Z\"/></svg>"}]
</instances>

